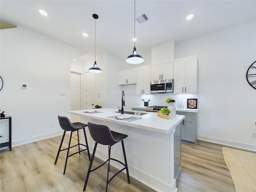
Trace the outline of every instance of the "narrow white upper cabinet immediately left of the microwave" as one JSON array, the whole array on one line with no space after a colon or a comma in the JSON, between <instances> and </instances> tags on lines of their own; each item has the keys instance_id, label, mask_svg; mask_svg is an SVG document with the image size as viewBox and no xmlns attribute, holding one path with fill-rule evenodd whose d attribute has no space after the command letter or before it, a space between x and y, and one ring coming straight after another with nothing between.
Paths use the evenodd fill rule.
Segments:
<instances>
[{"instance_id":1,"label":"narrow white upper cabinet immediately left of the microwave","mask_svg":"<svg viewBox=\"0 0 256 192\"><path fill-rule=\"evenodd\" d=\"M150 65L136 68L136 94L150 94Z\"/></svg>"}]
</instances>

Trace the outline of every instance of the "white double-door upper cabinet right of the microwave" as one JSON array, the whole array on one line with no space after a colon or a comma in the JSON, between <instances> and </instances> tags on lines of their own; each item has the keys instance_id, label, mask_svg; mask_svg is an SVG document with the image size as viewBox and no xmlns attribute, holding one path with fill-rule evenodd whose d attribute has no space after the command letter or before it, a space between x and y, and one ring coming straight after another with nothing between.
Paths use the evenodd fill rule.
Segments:
<instances>
[{"instance_id":1,"label":"white double-door upper cabinet right of the microwave","mask_svg":"<svg viewBox=\"0 0 256 192\"><path fill-rule=\"evenodd\" d=\"M174 93L197 92L197 56L174 60Z\"/></svg>"}]
</instances>

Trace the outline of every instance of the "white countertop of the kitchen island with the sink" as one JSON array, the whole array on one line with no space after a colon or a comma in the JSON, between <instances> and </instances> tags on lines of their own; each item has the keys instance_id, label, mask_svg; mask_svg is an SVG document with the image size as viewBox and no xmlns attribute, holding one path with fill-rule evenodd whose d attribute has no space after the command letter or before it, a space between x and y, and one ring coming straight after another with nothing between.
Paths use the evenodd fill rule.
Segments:
<instances>
[{"instance_id":1,"label":"white countertop of the kitchen island with the sink","mask_svg":"<svg viewBox=\"0 0 256 192\"><path fill-rule=\"evenodd\" d=\"M117 113L117 109L110 109L110 108L100 108L96 109L99 112L102 113L85 113L88 110L79 110L79 111L68 111L69 114L75 114L75 115L80 115L88 118L94 118L98 120L104 120L108 122L114 122L117 124L123 124L126 126L131 126L135 128L140 128L144 130L150 130L150 131L155 131L159 133L164 133L168 134L172 129L174 129L184 118L184 115L176 115L175 118L169 118L169 119L164 119L160 118L157 116L156 112L144 112L147 114L141 115L141 119L132 121L132 122L125 122L122 120L116 120L112 118L108 118L110 116L117 116L120 115L121 113ZM125 110L125 111L131 111L132 110ZM135 116L131 114L124 114L127 116Z\"/></svg>"}]
</instances>

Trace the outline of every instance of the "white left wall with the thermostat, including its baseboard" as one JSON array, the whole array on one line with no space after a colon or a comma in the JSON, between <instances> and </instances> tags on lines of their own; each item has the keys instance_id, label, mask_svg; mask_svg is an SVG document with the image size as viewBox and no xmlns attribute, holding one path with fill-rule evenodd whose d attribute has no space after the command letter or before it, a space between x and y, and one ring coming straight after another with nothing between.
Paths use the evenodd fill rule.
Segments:
<instances>
[{"instance_id":1,"label":"white left wall with the thermostat, including its baseboard","mask_svg":"<svg viewBox=\"0 0 256 192\"><path fill-rule=\"evenodd\" d=\"M12 116L12 145L61 134L57 116L70 110L70 60L84 52L21 26L0 35L0 106Z\"/></svg>"}]
</instances>

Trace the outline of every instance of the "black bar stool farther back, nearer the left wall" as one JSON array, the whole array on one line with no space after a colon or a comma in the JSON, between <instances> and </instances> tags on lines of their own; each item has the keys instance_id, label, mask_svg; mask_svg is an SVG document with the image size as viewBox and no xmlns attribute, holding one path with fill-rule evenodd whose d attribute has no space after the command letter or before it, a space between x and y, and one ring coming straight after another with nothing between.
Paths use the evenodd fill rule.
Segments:
<instances>
[{"instance_id":1,"label":"black bar stool farther back, nearer the left wall","mask_svg":"<svg viewBox=\"0 0 256 192\"><path fill-rule=\"evenodd\" d=\"M80 154L80 152L87 150L87 152L88 152L88 157L89 157L89 161L91 160L91 158L90 158L90 152L89 152L89 148L88 148L88 142L87 142L86 133L85 133L85 127L87 127L88 125L83 124L83 123L80 123L80 122L71 123L70 120L69 120L67 117L65 117L65 116L60 116L60 115L58 115L58 120L59 120L60 127L64 130L64 133L63 133L63 136L62 136L62 140L61 140L61 142L60 142L60 148L59 148L59 150L58 150L58 154L57 154L57 156L56 156L56 160L55 160L54 165L56 165L56 163L57 163L57 160L58 160L58 157L59 157L60 152L61 152L61 151L64 151L64 150L68 150L68 151L67 151L67 156L66 156L66 162L65 162L64 172L63 172L63 174L65 174L65 172L66 172L66 166L67 166L67 162L68 162L68 158L69 158L70 156L72 156L72 155L74 155L74 154L77 154L77 153ZM86 145L80 144L80 142L79 142L78 130L80 130L80 129L83 129L83 130L84 130L84 138L85 138ZM64 137L65 137L65 134L66 134L66 131L71 131L71 133L70 133L70 139L69 139L69 143L68 143L68 148L61 149L62 143L63 143L63 140L64 140ZM77 140L78 140L78 144L76 144L76 145L70 147L70 143L71 143L71 139L72 139L72 133L73 133L74 131L77 131ZM80 150L80 145L85 146L86 149ZM68 155L69 149L72 148L72 147L75 147L75 146L78 146L78 152L75 152L75 153L73 153L73 154Z\"/></svg>"}]
</instances>

